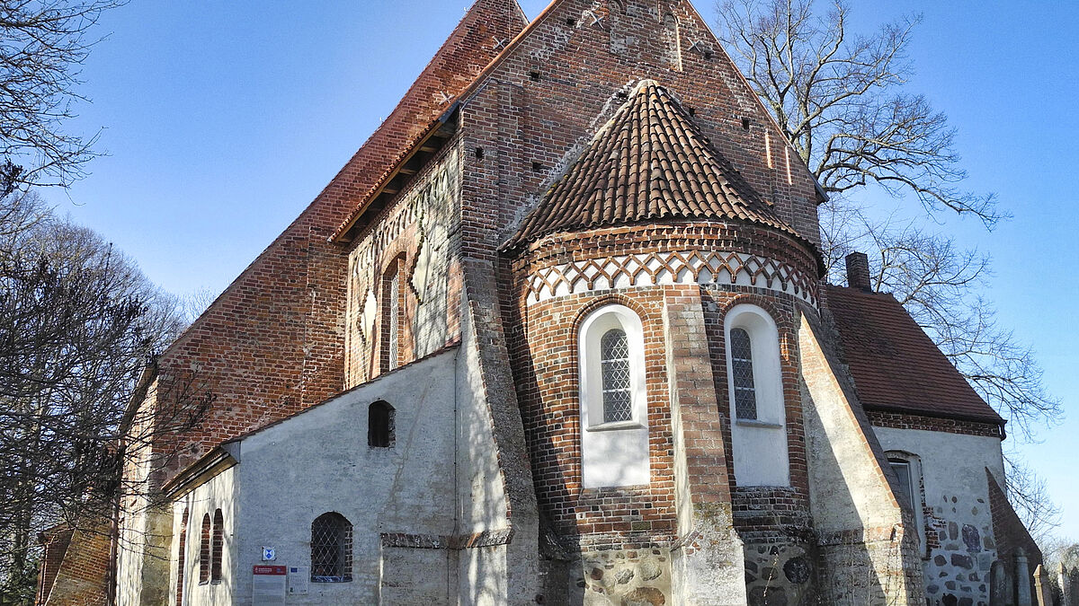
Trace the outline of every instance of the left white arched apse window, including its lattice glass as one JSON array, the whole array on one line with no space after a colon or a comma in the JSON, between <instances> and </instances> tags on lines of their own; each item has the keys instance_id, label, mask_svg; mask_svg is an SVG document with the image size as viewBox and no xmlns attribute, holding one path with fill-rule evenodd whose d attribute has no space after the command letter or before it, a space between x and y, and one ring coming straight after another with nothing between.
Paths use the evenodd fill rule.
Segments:
<instances>
[{"instance_id":1,"label":"left white arched apse window, including its lattice glass","mask_svg":"<svg viewBox=\"0 0 1079 606\"><path fill-rule=\"evenodd\" d=\"M625 305L589 314L577 334L581 359L582 483L586 488L651 481L644 329Z\"/></svg>"}]
</instances>

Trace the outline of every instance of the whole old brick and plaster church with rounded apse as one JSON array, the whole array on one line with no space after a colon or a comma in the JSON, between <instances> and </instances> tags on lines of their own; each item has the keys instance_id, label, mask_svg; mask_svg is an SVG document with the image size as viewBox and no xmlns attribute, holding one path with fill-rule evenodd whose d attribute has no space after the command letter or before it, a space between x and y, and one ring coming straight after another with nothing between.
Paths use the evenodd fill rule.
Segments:
<instances>
[{"instance_id":1,"label":"whole old brick and plaster church with rounded apse","mask_svg":"<svg viewBox=\"0 0 1079 606\"><path fill-rule=\"evenodd\" d=\"M1005 421L871 290L864 254L827 284L825 199L688 0L555 0L531 22L477 0L148 372L133 407L168 410L183 376L213 405L135 453L147 491L120 504L94 591L1029 595ZM39 603L72 603L90 586L55 560Z\"/></svg>"}]
</instances>

